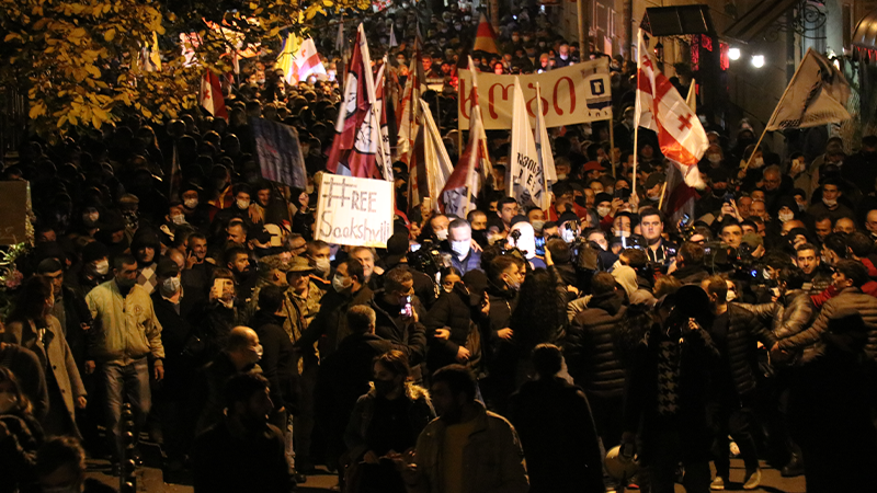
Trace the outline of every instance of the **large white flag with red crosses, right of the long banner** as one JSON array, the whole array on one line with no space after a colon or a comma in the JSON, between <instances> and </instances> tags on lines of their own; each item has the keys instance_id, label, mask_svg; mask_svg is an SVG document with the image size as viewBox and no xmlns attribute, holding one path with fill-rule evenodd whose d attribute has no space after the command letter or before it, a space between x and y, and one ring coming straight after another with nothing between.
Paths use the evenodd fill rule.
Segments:
<instances>
[{"instance_id":1,"label":"large white flag with red crosses, right of the long banner","mask_svg":"<svg viewBox=\"0 0 877 493\"><path fill-rule=\"evenodd\" d=\"M679 164L690 186L703 184L697 162L709 141L697 115L670 80L661 73L642 31L637 39L637 125L654 130L661 152Z\"/></svg>"}]
</instances>

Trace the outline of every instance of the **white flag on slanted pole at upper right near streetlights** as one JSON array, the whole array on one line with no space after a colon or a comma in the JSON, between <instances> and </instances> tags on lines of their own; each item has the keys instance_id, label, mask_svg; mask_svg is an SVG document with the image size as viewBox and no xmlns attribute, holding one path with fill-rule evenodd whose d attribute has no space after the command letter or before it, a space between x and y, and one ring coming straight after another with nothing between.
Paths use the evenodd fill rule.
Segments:
<instances>
[{"instance_id":1,"label":"white flag on slanted pole at upper right near streetlights","mask_svg":"<svg viewBox=\"0 0 877 493\"><path fill-rule=\"evenodd\" d=\"M809 48L776 105L767 130L816 127L850 118L850 84L825 57Z\"/></svg>"}]
</instances>

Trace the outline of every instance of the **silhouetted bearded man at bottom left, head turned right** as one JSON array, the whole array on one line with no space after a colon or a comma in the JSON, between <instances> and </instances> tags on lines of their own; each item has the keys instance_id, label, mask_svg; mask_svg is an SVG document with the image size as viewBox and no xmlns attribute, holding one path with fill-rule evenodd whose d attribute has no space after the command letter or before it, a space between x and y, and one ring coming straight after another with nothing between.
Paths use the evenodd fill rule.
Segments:
<instances>
[{"instance_id":1,"label":"silhouetted bearded man at bottom left, head turned right","mask_svg":"<svg viewBox=\"0 0 877 493\"><path fill-rule=\"evenodd\" d=\"M225 394L225 417L195 439L195 491L288 492L283 435L267 422L274 408L267 380L260 375L236 375L226 383Z\"/></svg>"}]
</instances>

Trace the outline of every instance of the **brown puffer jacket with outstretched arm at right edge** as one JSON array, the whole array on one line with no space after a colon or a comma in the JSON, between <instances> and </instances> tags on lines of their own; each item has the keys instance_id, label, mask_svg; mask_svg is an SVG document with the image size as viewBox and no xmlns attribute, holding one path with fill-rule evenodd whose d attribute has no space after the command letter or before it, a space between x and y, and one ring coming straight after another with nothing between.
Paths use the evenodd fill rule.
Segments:
<instances>
[{"instance_id":1,"label":"brown puffer jacket with outstretched arm at right edge","mask_svg":"<svg viewBox=\"0 0 877 493\"><path fill-rule=\"evenodd\" d=\"M852 309L862 314L868 328L868 343L865 353L870 358L877 357L877 298L862 293L857 287L847 287L834 298L825 301L822 311L809 329L779 341L779 348L786 352L800 352L801 363L809 363L823 353L822 333L834 312Z\"/></svg>"}]
</instances>

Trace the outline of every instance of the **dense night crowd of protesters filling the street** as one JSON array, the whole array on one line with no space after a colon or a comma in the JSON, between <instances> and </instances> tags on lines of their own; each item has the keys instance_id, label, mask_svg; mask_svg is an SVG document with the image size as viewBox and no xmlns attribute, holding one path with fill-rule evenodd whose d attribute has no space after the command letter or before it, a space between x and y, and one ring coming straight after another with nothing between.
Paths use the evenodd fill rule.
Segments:
<instances>
[{"instance_id":1,"label":"dense night crowd of protesters filling the street","mask_svg":"<svg viewBox=\"0 0 877 493\"><path fill-rule=\"evenodd\" d=\"M424 31L456 157L478 16L407 7L366 20L373 49L403 83ZM500 47L481 70L578 61L537 9L503 19ZM30 141L3 169L30 182L35 244L0 324L0 492L105 491L86 454L128 474L141 437L196 492L287 492L324 466L350 492L699 493L733 488L732 455L745 490L767 460L808 492L877 491L877 137L847 152L815 128L770 149L745 121L708 127L706 188L672 221L673 163L648 130L634 148L613 60L615 147L605 124L551 129L548 210L505 194L493 130L466 217L409 204L397 162L386 249L342 246L314 238L337 82L243 70L229 122L129 119ZM306 187L261 177L251 118L298 129ZM614 447L635 475L604 467Z\"/></svg>"}]
</instances>

